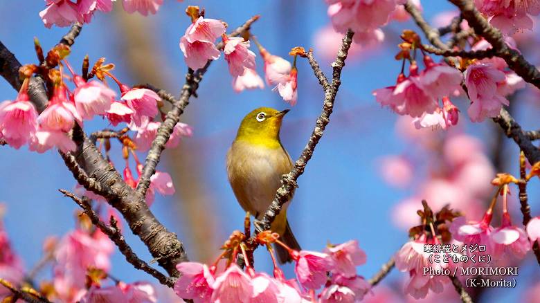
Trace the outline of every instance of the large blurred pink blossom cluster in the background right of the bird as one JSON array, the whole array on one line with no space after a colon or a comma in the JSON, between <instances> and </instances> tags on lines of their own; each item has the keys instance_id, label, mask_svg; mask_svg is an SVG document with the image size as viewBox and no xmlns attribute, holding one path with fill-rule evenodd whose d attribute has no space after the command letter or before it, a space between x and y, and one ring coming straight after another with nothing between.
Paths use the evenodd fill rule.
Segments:
<instances>
[{"instance_id":1,"label":"large blurred pink blossom cluster in the background right of the bird","mask_svg":"<svg viewBox=\"0 0 540 303\"><path fill-rule=\"evenodd\" d=\"M449 204L469 219L481 216L495 171L480 140L460 133L418 130L407 117L397 121L396 129L410 147L402 155L382 158L381 176L390 185L413 189L413 194L394 206L395 225L404 229L417 225L416 210L422 199L433 210ZM434 150L441 152L433 156Z\"/></svg>"}]
</instances>

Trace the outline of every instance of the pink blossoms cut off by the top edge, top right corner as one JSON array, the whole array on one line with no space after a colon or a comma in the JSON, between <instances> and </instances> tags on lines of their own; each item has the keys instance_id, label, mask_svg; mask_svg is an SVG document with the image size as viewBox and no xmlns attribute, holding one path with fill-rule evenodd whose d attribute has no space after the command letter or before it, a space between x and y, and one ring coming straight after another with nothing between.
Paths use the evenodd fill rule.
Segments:
<instances>
[{"instance_id":1,"label":"pink blossoms cut off by the top edge, top right corner","mask_svg":"<svg viewBox=\"0 0 540 303\"><path fill-rule=\"evenodd\" d=\"M476 8L489 17L489 23L505 34L532 29L532 18L540 14L538 0L475 0Z\"/></svg>"}]
</instances>

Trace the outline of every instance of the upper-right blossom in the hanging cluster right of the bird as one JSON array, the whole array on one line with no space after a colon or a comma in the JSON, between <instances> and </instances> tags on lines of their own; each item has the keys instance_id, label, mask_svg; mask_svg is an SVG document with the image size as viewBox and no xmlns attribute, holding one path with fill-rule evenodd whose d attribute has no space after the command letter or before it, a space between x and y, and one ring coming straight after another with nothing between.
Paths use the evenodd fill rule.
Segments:
<instances>
[{"instance_id":1,"label":"upper-right blossom in the hanging cluster right of the bird","mask_svg":"<svg viewBox=\"0 0 540 303\"><path fill-rule=\"evenodd\" d=\"M420 84L424 91L433 98L451 95L460 89L463 75L456 68L447 64L435 64L431 57L424 56L426 69L420 73Z\"/></svg>"}]
</instances>

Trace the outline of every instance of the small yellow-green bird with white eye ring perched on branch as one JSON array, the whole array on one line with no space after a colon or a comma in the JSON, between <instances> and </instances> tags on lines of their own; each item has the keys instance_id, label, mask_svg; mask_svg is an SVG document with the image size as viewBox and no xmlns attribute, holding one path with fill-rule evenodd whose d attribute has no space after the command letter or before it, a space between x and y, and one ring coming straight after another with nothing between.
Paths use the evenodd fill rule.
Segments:
<instances>
[{"instance_id":1,"label":"small yellow-green bird with white eye ring perched on branch","mask_svg":"<svg viewBox=\"0 0 540 303\"><path fill-rule=\"evenodd\" d=\"M262 219L281 186L281 176L288 174L293 167L291 156L280 141L282 119L288 112L289 109L278 111L269 107L251 111L240 123L227 152L228 181L240 206L256 219ZM277 232L280 241L289 248L300 250L287 221L290 202L283 205L271 224L271 230ZM275 248L281 264L291 261L285 248L277 244Z\"/></svg>"}]
</instances>

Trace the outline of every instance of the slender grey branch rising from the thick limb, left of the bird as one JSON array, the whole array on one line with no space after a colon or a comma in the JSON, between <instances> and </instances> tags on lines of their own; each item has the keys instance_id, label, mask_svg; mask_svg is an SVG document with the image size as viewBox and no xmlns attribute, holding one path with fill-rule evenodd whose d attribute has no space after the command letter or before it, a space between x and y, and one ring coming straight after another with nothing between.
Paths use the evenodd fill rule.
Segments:
<instances>
[{"instance_id":1,"label":"slender grey branch rising from the thick limb, left of the bird","mask_svg":"<svg viewBox=\"0 0 540 303\"><path fill-rule=\"evenodd\" d=\"M236 37L237 35L243 33L245 30L249 30L251 24L253 24L253 22L255 22L257 19L259 19L258 16L252 17L242 26L234 30L233 33L229 35L229 37ZM218 49L221 50L223 49L223 47L223 42L217 44ZM163 122L159 126L156 138L154 138L154 141L152 142L152 147L150 147L150 151L148 151L148 155L146 156L145 165L143 167L143 171L141 172L141 177L139 178L139 182L136 188L136 192L139 195L145 196L146 191L150 186L150 177L156 173L156 166L159 163L159 159L161 158L161 153L163 152L163 149L165 149L165 144L169 140L174 126L177 125L177 123L179 122L183 110L186 109L186 107L188 106L190 102L190 97L192 95L195 95L195 97L197 97L195 92L197 91L197 88L199 87L199 82L201 81L204 73L206 73L206 69L210 65L210 62L212 62L212 60L208 60L206 66L200 68L197 73L194 73L191 68L188 69L188 73L186 73L186 84L184 84L182 87L180 98L179 100L174 100L174 103L172 104L172 109L167 113L165 120L163 120Z\"/></svg>"}]
</instances>

